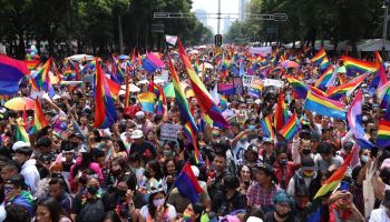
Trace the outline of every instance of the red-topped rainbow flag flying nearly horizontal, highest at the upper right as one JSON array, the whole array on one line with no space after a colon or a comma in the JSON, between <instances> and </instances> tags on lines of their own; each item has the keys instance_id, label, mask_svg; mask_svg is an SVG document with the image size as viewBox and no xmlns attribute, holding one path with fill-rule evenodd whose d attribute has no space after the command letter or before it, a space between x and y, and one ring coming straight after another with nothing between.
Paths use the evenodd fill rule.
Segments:
<instances>
[{"instance_id":1,"label":"red-topped rainbow flag flying nearly horizontal, highest at the upper right","mask_svg":"<svg viewBox=\"0 0 390 222\"><path fill-rule=\"evenodd\" d=\"M378 69L377 62L368 62L347 56L342 56L341 60L344 63L348 75L354 75L355 73L376 72Z\"/></svg>"}]
</instances>

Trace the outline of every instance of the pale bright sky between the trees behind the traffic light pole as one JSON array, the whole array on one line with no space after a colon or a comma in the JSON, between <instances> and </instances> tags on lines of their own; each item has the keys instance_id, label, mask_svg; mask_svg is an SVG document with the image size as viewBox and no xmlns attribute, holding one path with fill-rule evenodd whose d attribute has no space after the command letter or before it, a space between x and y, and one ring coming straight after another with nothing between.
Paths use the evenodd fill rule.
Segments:
<instances>
[{"instance_id":1,"label":"pale bright sky between the trees behind the traffic light pole","mask_svg":"<svg viewBox=\"0 0 390 222\"><path fill-rule=\"evenodd\" d=\"M238 13L238 1L240 0L221 0L221 13ZM193 0L193 9L206 10L207 13L216 13L218 12L218 0ZM233 20L232 20L233 21ZM207 26L212 27L214 33L217 30L217 20L208 19ZM224 19L221 19L221 32L224 33Z\"/></svg>"}]
</instances>

